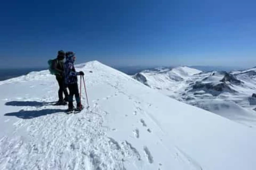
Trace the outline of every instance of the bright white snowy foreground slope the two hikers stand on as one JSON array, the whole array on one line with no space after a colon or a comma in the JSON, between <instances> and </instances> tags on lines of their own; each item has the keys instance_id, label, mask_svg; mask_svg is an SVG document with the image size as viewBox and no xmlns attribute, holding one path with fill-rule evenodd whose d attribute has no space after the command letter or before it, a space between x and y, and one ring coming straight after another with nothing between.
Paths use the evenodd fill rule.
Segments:
<instances>
[{"instance_id":1,"label":"bright white snowy foreground slope the two hikers stand on","mask_svg":"<svg viewBox=\"0 0 256 170\"><path fill-rule=\"evenodd\" d=\"M77 70L85 72L90 108L76 115L52 106L57 83L48 71L0 82L0 169L256 168L253 128L171 99L97 61Z\"/></svg>"}]
</instances>

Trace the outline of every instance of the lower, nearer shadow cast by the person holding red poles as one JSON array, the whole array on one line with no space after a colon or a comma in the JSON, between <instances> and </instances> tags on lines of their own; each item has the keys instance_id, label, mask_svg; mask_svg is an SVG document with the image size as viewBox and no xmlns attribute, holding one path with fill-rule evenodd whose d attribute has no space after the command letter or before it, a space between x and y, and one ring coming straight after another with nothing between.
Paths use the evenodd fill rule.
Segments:
<instances>
[{"instance_id":1,"label":"lower, nearer shadow cast by the person holding red poles","mask_svg":"<svg viewBox=\"0 0 256 170\"><path fill-rule=\"evenodd\" d=\"M32 119L39 116L65 112L65 109L20 110L19 112L6 113L5 116L16 116L21 119Z\"/></svg>"}]
</instances>

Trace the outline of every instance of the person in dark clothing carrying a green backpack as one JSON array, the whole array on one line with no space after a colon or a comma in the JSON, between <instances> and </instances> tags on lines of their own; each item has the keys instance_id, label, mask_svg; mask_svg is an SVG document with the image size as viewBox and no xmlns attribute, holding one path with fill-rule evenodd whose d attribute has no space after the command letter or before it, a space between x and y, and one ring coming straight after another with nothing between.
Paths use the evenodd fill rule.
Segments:
<instances>
[{"instance_id":1,"label":"person in dark clothing carrying a green backpack","mask_svg":"<svg viewBox=\"0 0 256 170\"><path fill-rule=\"evenodd\" d=\"M59 84L58 97L59 100L56 105L66 105L68 101L68 90L65 84L65 70L64 70L64 58L65 52L63 50L58 51L58 56L52 62L52 68L58 73L56 74L56 80ZM63 99L63 93L65 98Z\"/></svg>"}]
</instances>

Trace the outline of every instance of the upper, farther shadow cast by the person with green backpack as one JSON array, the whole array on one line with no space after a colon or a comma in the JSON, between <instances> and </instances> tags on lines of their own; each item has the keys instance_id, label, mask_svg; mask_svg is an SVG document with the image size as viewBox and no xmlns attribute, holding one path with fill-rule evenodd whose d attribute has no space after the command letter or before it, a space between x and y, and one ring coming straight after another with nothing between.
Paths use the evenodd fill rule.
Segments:
<instances>
[{"instance_id":1,"label":"upper, farther shadow cast by the person with green backpack","mask_svg":"<svg viewBox=\"0 0 256 170\"><path fill-rule=\"evenodd\" d=\"M55 101L53 102L38 102L38 101L9 101L6 102L6 106L35 106L35 107L42 107L45 105L53 105L56 103Z\"/></svg>"}]
</instances>

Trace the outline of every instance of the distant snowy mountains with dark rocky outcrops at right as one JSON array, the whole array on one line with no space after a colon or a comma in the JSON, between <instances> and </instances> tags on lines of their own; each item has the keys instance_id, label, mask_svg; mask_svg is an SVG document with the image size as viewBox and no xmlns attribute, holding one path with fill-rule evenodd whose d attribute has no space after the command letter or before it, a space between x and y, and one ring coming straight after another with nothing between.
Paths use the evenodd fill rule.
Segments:
<instances>
[{"instance_id":1,"label":"distant snowy mountains with dark rocky outcrops at right","mask_svg":"<svg viewBox=\"0 0 256 170\"><path fill-rule=\"evenodd\" d=\"M142 71L133 78L176 100L256 127L256 99L251 98L256 92L255 68L231 73L162 68Z\"/></svg>"}]
</instances>

